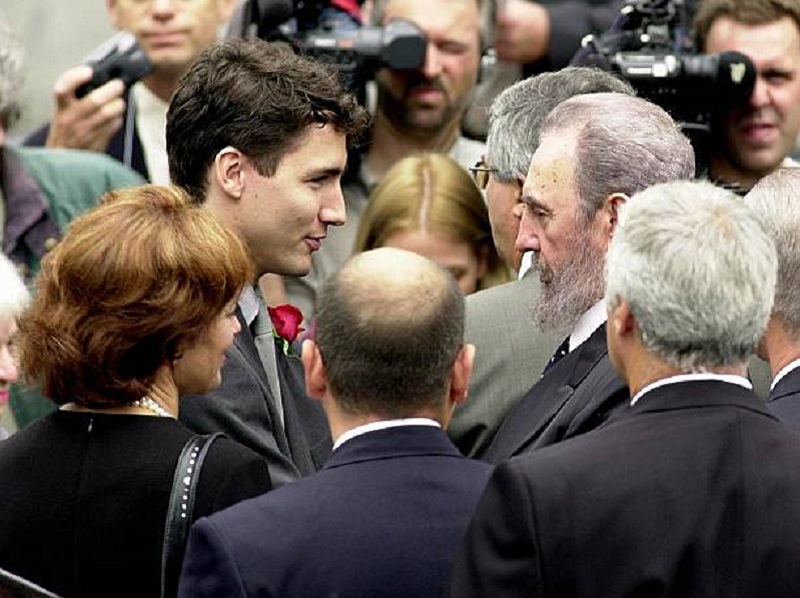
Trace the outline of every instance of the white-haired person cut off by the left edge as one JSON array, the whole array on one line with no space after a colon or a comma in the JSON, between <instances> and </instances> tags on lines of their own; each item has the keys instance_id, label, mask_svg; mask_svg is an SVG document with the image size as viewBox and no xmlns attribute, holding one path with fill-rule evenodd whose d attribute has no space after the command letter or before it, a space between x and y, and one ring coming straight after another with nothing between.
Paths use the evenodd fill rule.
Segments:
<instances>
[{"instance_id":1,"label":"white-haired person cut off by the left edge","mask_svg":"<svg viewBox=\"0 0 800 598\"><path fill-rule=\"evenodd\" d=\"M3 415L11 395L11 385L19 378L19 367L14 351L17 318L28 304L30 295L14 264L0 254L0 416ZM8 432L0 427L0 440Z\"/></svg>"}]
</instances>

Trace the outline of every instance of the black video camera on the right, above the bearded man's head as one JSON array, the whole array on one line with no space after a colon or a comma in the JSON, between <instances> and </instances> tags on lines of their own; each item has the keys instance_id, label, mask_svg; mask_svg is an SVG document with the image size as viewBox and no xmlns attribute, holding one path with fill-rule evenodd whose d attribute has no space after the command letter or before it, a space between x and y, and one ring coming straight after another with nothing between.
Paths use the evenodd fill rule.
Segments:
<instances>
[{"instance_id":1,"label":"black video camera on the right, above the bearded man's head","mask_svg":"<svg viewBox=\"0 0 800 598\"><path fill-rule=\"evenodd\" d=\"M697 53L690 31L684 0L628 0L607 32L583 40L578 61L618 73L664 108L699 154L718 116L749 100L756 69L739 52Z\"/></svg>"}]
</instances>

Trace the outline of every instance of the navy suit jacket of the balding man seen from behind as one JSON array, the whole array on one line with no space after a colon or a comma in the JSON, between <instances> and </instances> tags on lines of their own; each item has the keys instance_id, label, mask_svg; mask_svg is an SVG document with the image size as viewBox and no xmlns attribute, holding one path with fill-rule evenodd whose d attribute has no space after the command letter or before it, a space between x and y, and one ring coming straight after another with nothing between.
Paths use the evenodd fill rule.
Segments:
<instances>
[{"instance_id":1,"label":"navy suit jacket of the balding man seen from behind","mask_svg":"<svg viewBox=\"0 0 800 598\"><path fill-rule=\"evenodd\" d=\"M439 428L357 436L315 475L194 526L179 595L443 596L489 473Z\"/></svg>"}]
</instances>

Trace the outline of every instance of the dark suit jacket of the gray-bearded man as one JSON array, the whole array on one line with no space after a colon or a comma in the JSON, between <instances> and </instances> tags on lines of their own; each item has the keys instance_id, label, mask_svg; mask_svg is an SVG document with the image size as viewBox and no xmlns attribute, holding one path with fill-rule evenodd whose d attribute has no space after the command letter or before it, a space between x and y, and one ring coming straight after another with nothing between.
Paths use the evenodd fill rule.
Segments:
<instances>
[{"instance_id":1,"label":"dark suit jacket of the gray-bearded man","mask_svg":"<svg viewBox=\"0 0 800 598\"><path fill-rule=\"evenodd\" d=\"M583 434L625 409L628 387L608 358L606 327L561 359L508 413L482 457L490 463Z\"/></svg>"}]
</instances>

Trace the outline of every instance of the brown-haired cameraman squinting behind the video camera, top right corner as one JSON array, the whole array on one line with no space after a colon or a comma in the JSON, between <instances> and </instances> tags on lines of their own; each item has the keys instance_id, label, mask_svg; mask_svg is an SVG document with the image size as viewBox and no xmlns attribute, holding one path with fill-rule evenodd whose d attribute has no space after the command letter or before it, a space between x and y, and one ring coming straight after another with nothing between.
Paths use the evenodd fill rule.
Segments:
<instances>
[{"instance_id":1,"label":"brown-haired cameraman squinting behind the video camera, top right corner","mask_svg":"<svg viewBox=\"0 0 800 598\"><path fill-rule=\"evenodd\" d=\"M797 0L701 0L694 40L706 54L741 52L756 81L749 101L712 123L708 174L750 189L782 165L800 132L800 4Z\"/></svg>"}]
</instances>

